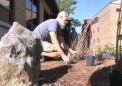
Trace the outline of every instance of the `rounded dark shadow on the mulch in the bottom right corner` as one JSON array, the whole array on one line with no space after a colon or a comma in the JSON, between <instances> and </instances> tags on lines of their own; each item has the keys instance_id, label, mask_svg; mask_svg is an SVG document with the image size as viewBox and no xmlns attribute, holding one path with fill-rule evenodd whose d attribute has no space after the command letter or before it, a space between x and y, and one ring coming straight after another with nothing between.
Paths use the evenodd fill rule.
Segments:
<instances>
[{"instance_id":1,"label":"rounded dark shadow on the mulch in the bottom right corner","mask_svg":"<svg viewBox=\"0 0 122 86\"><path fill-rule=\"evenodd\" d=\"M115 65L112 65L115 69ZM111 71L111 66L104 67L94 72L87 82L87 86L109 86L109 72Z\"/></svg>"}]
</instances>

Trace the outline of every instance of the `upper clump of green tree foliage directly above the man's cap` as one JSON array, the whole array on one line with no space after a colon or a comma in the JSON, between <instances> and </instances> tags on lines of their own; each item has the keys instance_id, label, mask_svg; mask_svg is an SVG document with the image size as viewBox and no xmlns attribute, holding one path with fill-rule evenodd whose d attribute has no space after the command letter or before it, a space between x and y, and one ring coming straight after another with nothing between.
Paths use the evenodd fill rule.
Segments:
<instances>
[{"instance_id":1,"label":"upper clump of green tree foliage directly above the man's cap","mask_svg":"<svg viewBox=\"0 0 122 86\"><path fill-rule=\"evenodd\" d=\"M62 11L65 11L67 13L72 13L74 14L74 10L76 9L76 7L71 7L72 5L75 5L77 3L77 1L74 0L57 0L59 8Z\"/></svg>"}]
</instances>

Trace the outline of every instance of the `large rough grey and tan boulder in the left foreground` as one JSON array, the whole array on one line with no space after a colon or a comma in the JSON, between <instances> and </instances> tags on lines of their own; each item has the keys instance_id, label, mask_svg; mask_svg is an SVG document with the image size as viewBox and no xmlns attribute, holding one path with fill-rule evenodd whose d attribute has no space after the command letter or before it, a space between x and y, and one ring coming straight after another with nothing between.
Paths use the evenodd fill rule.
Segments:
<instances>
[{"instance_id":1,"label":"large rough grey and tan boulder in the left foreground","mask_svg":"<svg viewBox=\"0 0 122 86\"><path fill-rule=\"evenodd\" d=\"M42 46L15 22L0 42L0 86L37 86Z\"/></svg>"}]
</instances>

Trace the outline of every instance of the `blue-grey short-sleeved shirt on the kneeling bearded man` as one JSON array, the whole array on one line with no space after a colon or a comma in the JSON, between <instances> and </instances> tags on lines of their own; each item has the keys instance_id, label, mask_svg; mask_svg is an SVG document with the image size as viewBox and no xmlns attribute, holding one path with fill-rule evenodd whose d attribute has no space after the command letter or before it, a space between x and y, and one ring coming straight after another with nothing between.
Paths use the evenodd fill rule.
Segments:
<instances>
[{"instance_id":1,"label":"blue-grey short-sleeved shirt on the kneeling bearded man","mask_svg":"<svg viewBox=\"0 0 122 86\"><path fill-rule=\"evenodd\" d=\"M61 36L61 30L57 19L49 19L42 22L35 28L34 33L36 33L37 38L40 40L49 41L51 39L49 34L50 31L55 32L58 37Z\"/></svg>"}]
</instances>

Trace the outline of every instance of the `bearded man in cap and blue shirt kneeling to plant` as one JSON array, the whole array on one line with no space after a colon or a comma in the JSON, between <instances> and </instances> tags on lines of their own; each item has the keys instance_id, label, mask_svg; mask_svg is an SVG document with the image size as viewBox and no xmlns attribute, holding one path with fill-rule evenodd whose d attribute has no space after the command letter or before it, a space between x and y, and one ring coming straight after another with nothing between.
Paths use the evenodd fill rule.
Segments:
<instances>
[{"instance_id":1,"label":"bearded man in cap and blue shirt kneeling to plant","mask_svg":"<svg viewBox=\"0 0 122 86\"><path fill-rule=\"evenodd\" d=\"M56 19L46 20L35 28L34 33L36 33L37 38L41 40L43 46L43 52L41 56L61 56L64 62L67 64L69 62L69 58L62 50L61 44L62 47L71 54L77 53L76 51L70 49L61 37L60 29L65 29L68 20L70 20L68 14L64 11L61 11Z\"/></svg>"}]
</instances>

